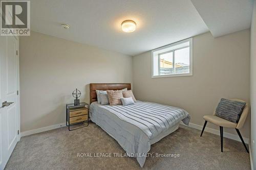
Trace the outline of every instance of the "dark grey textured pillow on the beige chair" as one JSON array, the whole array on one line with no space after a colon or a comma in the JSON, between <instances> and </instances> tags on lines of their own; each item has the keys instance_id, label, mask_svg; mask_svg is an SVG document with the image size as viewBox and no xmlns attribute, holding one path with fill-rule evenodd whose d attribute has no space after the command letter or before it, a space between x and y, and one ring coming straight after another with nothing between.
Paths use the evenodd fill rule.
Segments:
<instances>
[{"instance_id":1,"label":"dark grey textured pillow on the beige chair","mask_svg":"<svg viewBox=\"0 0 256 170\"><path fill-rule=\"evenodd\" d=\"M237 124L245 105L245 102L230 101L222 98L217 106L216 115Z\"/></svg>"}]
</instances>

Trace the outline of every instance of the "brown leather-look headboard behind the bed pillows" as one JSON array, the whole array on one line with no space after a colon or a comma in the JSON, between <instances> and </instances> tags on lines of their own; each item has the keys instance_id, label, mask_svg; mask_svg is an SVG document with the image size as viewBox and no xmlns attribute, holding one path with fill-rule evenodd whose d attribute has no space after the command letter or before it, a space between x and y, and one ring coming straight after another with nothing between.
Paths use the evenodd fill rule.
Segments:
<instances>
[{"instance_id":1,"label":"brown leather-look headboard behind the bed pillows","mask_svg":"<svg viewBox=\"0 0 256 170\"><path fill-rule=\"evenodd\" d=\"M131 90L131 83L90 83L90 104L97 101L96 90Z\"/></svg>"}]
</instances>

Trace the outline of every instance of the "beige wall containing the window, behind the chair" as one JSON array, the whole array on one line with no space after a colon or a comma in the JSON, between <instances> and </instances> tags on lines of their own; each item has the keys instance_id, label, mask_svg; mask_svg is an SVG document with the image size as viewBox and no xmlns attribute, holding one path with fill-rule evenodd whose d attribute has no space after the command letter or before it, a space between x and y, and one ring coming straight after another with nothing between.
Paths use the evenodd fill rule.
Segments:
<instances>
[{"instance_id":1,"label":"beige wall containing the window, behind the chair","mask_svg":"<svg viewBox=\"0 0 256 170\"><path fill-rule=\"evenodd\" d=\"M135 97L181 107L190 123L203 125L221 98L249 101L250 31L214 38L210 33L193 38L193 76L151 78L151 51L133 57ZM241 130L249 137L249 118ZM219 127L207 125L219 130ZM234 129L225 132L236 134Z\"/></svg>"}]
</instances>

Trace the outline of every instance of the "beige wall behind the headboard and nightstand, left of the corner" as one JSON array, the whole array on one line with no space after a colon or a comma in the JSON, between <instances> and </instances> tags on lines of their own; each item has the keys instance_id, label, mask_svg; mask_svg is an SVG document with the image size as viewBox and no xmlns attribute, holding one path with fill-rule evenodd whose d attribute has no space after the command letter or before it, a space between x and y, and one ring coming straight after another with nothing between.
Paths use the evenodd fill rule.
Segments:
<instances>
[{"instance_id":1,"label":"beige wall behind the headboard and nightstand, left of the corner","mask_svg":"<svg viewBox=\"0 0 256 170\"><path fill-rule=\"evenodd\" d=\"M32 32L20 37L21 131L65 123L66 103L89 83L132 82L132 57Z\"/></svg>"}]
</instances>

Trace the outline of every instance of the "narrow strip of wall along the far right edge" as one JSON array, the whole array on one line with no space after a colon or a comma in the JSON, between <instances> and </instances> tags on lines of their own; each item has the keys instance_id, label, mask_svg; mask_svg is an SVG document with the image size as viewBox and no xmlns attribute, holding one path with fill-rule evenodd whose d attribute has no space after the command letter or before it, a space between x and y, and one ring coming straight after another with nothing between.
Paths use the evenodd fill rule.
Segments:
<instances>
[{"instance_id":1,"label":"narrow strip of wall along the far right edge","mask_svg":"<svg viewBox=\"0 0 256 170\"><path fill-rule=\"evenodd\" d=\"M256 1L254 1L251 22L251 58L250 58L250 100L251 100L251 149L254 168L256 167ZM254 143L253 143L254 141Z\"/></svg>"}]
</instances>

